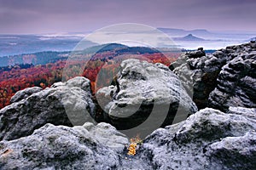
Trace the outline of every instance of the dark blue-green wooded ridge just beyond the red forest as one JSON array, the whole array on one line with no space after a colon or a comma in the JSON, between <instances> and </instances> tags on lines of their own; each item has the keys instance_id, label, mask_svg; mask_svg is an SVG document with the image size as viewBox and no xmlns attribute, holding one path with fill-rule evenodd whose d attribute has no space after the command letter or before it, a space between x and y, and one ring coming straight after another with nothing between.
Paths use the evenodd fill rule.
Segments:
<instances>
[{"instance_id":1,"label":"dark blue-green wooded ridge just beyond the red forest","mask_svg":"<svg viewBox=\"0 0 256 170\"><path fill-rule=\"evenodd\" d=\"M0 67L8 65L46 65L48 63L55 63L58 60L67 60L71 51L55 52L44 51L31 54L17 54L12 56L0 57ZM146 47L128 47L119 43L108 43L96 45L84 50L79 50L76 54L94 54L91 59L107 59L119 56L122 54L154 54L159 53L157 49ZM84 57L83 57L84 59Z\"/></svg>"}]
</instances>

